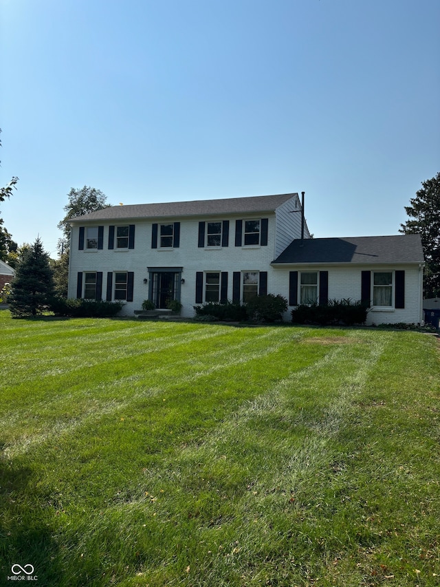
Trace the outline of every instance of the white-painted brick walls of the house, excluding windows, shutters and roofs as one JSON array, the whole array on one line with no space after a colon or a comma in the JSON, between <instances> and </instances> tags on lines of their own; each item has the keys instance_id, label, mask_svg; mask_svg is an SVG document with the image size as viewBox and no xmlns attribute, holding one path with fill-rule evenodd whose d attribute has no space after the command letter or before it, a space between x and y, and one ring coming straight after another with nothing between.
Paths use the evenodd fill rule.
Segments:
<instances>
[{"instance_id":1,"label":"white-painted brick walls of the house, excluding windows, shutters and roofs","mask_svg":"<svg viewBox=\"0 0 440 587\"><path fill-rule=\"evenodd\" d=\"M375 266L308 266L308 267L273 267L270 263L276 256L276 223L278 222L278 237L283 234L286 239L287 224L280 228L280 219L283 214L278 213L276 220L275 213L263 213L261 216L252 215L242 217L242 220L261 219L267 217L268 242L267 246L234 246L235 220L238 216L192 218L166 218L163 224L179 221L180 224L180 246L172 250L161 250L151 248L151 233L153 222L151 220L137 220L135 222L135 248L132 250L108 249L109 225L117 225L116 222L99 222L104 226L104 241L102 250L78 250L79 227L72 228L72 244L70 254L70 279L69 297L76 297L76 279L78 272L102 271L102 298L105 299L107 291L107 272L133 271L133 301L127 302L121 312L125 316L133 316L134 310L142 308L142 301L148 299L148 284L144 284L144 278L150 281L147 267L182 267L181 277L185 283L181 285L181 303L183 304L181 315L192 317L195 306L195 281L197 271L203 272L228 272L228 299L232 299L232 273L234 271L267 271L267 292L281 294L289 298L289 271L290 270L327 270L329 272L329 299L350 298L353 301L361 297L361 272L362 270L373 270ZM291 215L293 230L298 229L300 214ZM298 217L298 218L293 218ZM229 246L219 248L199 248L198 231L199 221L220 222L229 220ZM155 219L157 224L160 219ZM121 223L122 224L122 223ZM293 235L292 238L298 237ZM377 266L376 266L377 269ZM409 322L418 323L421 321L421 270L417 264L387 267L382 270L405 270L405 308L402 310L391 309L389 311L377 311L374 308L369 312L367 323L397 323ZM114 281L113 281L114 290ZM290 310L285 314L289 321Z\"/></svg>"}]
</instances>

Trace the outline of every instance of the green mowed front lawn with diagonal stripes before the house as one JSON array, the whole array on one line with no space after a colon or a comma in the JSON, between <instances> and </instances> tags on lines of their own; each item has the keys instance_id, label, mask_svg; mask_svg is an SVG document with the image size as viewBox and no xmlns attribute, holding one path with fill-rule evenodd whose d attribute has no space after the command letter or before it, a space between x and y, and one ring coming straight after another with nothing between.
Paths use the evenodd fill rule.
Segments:
<instances>
[{"instance_id":1,"label":"green mowed front lawn with diagonal stripes before the house","mask_svg":"<svg viewBox=\"0 0 440 587\"><path fill-rule=\"evenodd\" d=\"M0 311L0 585L440 584L440 345Z\"/></svg>"}]
</instances>

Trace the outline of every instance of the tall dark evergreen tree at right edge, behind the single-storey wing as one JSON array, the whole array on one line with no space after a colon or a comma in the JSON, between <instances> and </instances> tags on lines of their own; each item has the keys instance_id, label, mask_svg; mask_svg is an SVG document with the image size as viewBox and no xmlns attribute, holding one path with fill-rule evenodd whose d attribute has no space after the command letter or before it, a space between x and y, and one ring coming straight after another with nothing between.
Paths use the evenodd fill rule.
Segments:
<instances>
[{"instance_id":1,"label":"tall dark evergreen tree at right edge, behind the single-storey wing","mask_svg":"<svg viewBox=\"0 0 440 587\"><path fill-rule=\"evenodd\" d=\"M421 235L426 262L423 297L430 298L440 296L440 173L421 184L411 205L405 206L411 220L401 224L399 232Z\"/></svg>"}]
</instances>

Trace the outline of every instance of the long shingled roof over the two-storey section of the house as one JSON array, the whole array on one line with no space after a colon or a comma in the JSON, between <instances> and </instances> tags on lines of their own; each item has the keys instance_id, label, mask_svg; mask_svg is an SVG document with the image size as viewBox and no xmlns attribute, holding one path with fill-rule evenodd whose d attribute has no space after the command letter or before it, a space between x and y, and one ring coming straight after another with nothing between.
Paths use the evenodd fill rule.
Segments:
<instances>
[{"instance_id":1,"label":"long shingled roof over the two-storey section of the house","mask_svg":"<svg viewBox=\"0 0 440 587\"><path fill-rule=\"evenodd\" d=\"M284 204L295 195L298 194L283 193L279 195L256 195L250 198L224 198L222 200L195 200L193 202L110 206L109 208L91 212L90 214L74 217L71 219L71 222L274 212L278 206L281 206L281 204Z\"/></svg>"}]
</instances>

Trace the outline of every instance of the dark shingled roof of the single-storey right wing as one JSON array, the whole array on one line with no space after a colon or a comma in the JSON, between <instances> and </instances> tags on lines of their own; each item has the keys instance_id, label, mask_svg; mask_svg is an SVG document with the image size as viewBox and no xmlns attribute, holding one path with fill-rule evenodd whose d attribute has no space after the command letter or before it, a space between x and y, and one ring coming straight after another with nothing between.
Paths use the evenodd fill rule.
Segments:
<instances>
[{"instance_id":1,"label":"dark shingled roof of the single-storey right wing","mask_svg":"<svg viewBox=\"0 0 440 587\"><path fill-rule=\"evenodd\" d=\"M295 239L273 264L423 263L420 235Z\"/></svg>"}]
</instances>

